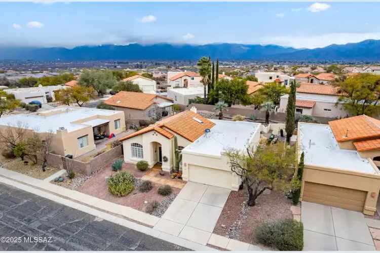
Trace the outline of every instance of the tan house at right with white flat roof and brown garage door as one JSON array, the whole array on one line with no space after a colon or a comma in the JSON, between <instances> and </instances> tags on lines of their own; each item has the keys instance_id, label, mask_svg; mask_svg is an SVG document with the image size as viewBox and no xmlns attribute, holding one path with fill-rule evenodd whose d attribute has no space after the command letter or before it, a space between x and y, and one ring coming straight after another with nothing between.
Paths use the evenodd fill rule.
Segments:
<instances>
[{"instance_id":1,"label":"tan house at right with white flat roof and brown garage door","mask_svg":"<svg viewBox=\"0 0 380 253\"><path fill-rule=\"evenodd\" d=\"M380 190L380 121L361 115L329 125L299 122L297 138L298 155L305 154L302 201L373 216Z\"/></svg>"}]
</instances>

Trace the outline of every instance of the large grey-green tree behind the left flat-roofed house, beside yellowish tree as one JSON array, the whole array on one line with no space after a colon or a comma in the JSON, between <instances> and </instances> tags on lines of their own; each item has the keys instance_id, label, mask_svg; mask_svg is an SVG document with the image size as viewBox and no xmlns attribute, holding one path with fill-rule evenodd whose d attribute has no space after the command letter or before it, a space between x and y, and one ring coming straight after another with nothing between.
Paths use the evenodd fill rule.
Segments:
<instances>
[{"instance_id":1,"label":"large grey-green tree behind the left flat-roofed house, beside yellowish tree","mask_svg":"<svg viewBox=\"0 0 380 253\"><path fill-rule=\"evenodd\" d=\"M106 93L107 89L117 85L117 80L109 70L85 70L80 75L80 86L92 87L99 96Z\"/></svg>"}]
</instances>

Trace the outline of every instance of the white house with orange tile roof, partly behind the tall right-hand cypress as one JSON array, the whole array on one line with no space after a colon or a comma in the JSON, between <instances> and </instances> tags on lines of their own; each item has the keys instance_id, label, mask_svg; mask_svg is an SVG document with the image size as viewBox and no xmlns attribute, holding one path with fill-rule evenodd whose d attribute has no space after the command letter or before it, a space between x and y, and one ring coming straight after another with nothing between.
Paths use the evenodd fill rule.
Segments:
<instances>
[{"instance_id":1,"label":"white house with orange tile roof, partly behind the tall right-hand cypress","mask_svg":"<svg viewBox=\"0 0 380 253\"><path fill-rule=\"evenodd\" d=\"M336 105L339 98L339 90L331 85L301 83L296 88L295 96L295 110L303 115L328 118L339 118L349 115L343 108L343 104L339 103ZM288 98L288 94L281 96L279 112L286 112Z\"/></svg>"}]
</instances>

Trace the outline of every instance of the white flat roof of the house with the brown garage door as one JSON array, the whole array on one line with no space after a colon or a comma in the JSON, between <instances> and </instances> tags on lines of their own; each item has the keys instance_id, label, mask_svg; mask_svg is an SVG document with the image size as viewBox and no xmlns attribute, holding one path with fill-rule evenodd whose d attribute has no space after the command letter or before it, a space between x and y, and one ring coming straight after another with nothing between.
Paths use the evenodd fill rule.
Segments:
<instances>
[{"instance_id":1,"label":"white flat roof of the house with the brown garage door","mask_svg":"<svg viewBox=\"0 0 380 253\"><path fill-rule=\"evenodd\" d=\"M329 125L299 123L298 134L305 164L378 174L369 160L361 158L357 151L340 149Z\"/></svg>"}]
</instances>

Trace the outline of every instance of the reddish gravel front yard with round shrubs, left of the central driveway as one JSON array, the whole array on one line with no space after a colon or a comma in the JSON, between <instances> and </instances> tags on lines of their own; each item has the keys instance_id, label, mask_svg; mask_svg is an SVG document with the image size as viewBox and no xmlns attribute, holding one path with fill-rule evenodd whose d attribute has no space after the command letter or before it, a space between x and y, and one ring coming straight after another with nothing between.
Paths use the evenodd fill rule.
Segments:
<instances>
[{"instance_id":1,"label":"reddish gravel front yard with round shrubs, left of the central driveway","mask_svg":"<svg viewBox=\"0 0 380 253\"><path fill-rule=\"evenodd\" d=\"M63 182L63 183L57 183L57 184L73 189L73 190L83 192L85 194L88 194L97 198L101 198L101 199L113 202L113 203L129 206L143 212L146 206L146 203L144 203L144 201L149 202L149 201L156 200L160 203L162 202L162 204L160 204L160 207L159 207L160 212L158 212L160 214L164 211L163 208L166 210L168 205L171 203L171 201L168 201L168 199L169 198L174 199L173 195L178 194L178 192L180 191L180 189L172 187L173 193L170 196L162 196L157 193L157 190L160 184L154 184L154 188L146 193L139 192L137 190L137 187L135 187L135 189L125 197L113 196L112 194L109 193L108 186L105 181L106 177L110 177L118 173L118 172L112 171L111 164L112 163L108 164L105 168L102 168L101 170L99 170L98 172L95 172L93 175L90 175L90 176L77 175L76 177L78 177L77 179L79 179L80 181L79 184L78 183L76 185L74 185L73 183L68 184L70 180L67 180L66 182ZM135 165L129 164L129 163L124 163L122 171L126 171L133 174L136 179L141 178L148 172L148 171L141 172L137 170ZM167 175L165 178L169 178L169 176ZM75 182L75 179L73 180L73 182Z\"/></svg>"}]
</instances>

